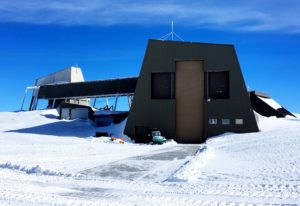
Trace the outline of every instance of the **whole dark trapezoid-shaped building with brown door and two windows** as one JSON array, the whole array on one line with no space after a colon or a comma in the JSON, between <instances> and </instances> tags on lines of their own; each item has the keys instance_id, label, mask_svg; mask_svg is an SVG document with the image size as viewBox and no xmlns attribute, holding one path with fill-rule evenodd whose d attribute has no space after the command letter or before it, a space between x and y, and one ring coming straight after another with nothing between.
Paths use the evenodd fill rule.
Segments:
<instances>
[{"instance_id":1,"label":"whole dark trapezoid-shaped building with brown door and two windows","mask_svg":"<svg viewBox=\"0 0 300 206\"><path fill-rule=\"evenodd\" d=\"M234 46L150 40L124 133L151 128L181 143L258 131Z\"/></svg>"}]
</instances>

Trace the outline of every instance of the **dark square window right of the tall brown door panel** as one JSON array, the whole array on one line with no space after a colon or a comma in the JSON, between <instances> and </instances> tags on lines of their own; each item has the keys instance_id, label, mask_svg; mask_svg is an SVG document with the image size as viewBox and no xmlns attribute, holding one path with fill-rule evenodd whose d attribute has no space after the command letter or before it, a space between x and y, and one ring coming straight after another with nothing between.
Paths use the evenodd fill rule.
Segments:
<instances>
[{"instance_id":1,"label":"dark square window right of the tall brown door panel","mask_svg":"<svg viewBox=\"0 0 300 206\"><path fill-rule=\"evenodd\" d=\"M205 73L205 98L229 99L229 72Z\"/></svg>"}]
</instances>

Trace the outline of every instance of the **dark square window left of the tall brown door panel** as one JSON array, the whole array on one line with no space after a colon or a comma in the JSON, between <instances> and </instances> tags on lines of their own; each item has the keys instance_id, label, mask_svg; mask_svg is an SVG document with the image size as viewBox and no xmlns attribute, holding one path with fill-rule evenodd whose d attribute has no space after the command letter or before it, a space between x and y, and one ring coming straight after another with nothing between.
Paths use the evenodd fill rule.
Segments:
<instances>
[{"instance_id":1,"label":"dark square window left of the tall brown door panel","mask_svg":"<svg viewBox=\"0 0 300 206\"><path fill-rule=\"evenodd\" d=\"M152 99L174 99L175 98L174 72L151 73L151 98Z\"/></svg>"}]
</instances>

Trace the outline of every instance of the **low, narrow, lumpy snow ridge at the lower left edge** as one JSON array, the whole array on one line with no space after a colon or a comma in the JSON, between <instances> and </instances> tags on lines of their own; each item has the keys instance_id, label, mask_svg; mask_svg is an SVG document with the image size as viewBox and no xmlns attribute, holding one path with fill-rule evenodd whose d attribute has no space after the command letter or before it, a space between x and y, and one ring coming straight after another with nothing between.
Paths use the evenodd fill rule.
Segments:
<instances>
[{"instance_id":1,"label":"low, narrow, lumpy snow ridge at the lower left edge","mask_svg":"<svg viewBox=\"0 0 300 206\"><path fill-rule=\"evenodd\" d=\"M2 169L10 169L17 170L21 172L25 172L27 174L38 174L38 175L47 175L47 176L64 176L64 177L77 177L78 175L74 175L72 173L63 173L51 170L43 170L39 165L33 167L25 167L17 164L12 164L11 162L6 162L4 164L0 164L0 168Z\"/></svg>"}]
</instances>

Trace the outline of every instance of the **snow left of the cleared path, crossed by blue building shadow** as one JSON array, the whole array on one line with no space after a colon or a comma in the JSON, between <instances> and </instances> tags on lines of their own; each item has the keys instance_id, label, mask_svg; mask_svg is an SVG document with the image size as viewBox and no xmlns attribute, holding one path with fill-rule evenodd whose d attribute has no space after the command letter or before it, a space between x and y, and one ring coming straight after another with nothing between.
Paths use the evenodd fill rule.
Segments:
<instances>
[{"instance_id":1,"label":"snow left of the cleared path, crossed by blue building shadow","mask_svg":"<svg viewBox=\"0 0 300 206\"><path fill-rule=\"evenodd\" d=\"M123 135L125 124L126 120L100 128L88 120L60 120L56 110L0 112L0 163L13 162L29 170L39 165L43 171L75 174L171 146L132 144ZM96 131L123 137L125 144L116 144L105 137L94 138Z\"/></svg>"}]
</instances>

